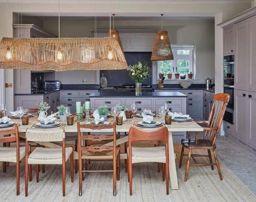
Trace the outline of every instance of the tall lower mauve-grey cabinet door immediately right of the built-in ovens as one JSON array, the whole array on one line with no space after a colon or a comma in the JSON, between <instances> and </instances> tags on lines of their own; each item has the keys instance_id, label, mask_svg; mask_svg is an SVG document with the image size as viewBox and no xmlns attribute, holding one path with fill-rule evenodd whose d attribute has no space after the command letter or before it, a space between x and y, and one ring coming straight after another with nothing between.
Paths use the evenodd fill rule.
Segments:
<instances>
[{"instance_id":1,"label":"tall lower mauve-grey cabinet door immediately right of the built-in ovens","mask_svg":"<svg viewBox=\"0 0 256 202\"><path fill-rule=\"evenodd\" d=\"M235 108L234 111L236 113L236 131L234 136L241 140L242 142L246 142L246 134L247 134L247 91L241 91L236 89L234 92L235 98Z\"/></svg>"}]
</instances>

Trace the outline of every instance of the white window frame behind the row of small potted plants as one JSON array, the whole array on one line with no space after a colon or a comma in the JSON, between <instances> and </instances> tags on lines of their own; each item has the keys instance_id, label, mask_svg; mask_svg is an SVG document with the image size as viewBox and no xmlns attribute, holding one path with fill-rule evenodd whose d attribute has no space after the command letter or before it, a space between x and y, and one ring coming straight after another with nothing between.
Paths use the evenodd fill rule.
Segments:
<instances>
[{"instance_id":1,"label":"white window frame behind the row of small potted plants","mask_svg":"<svg viewBox=\"0 0 256 202\"><path fill-rule=\"evenodd\" d=\"M179 55L177 52L178 50L189 50L190 53L188 55ZM189 60L189 73L192 72L193 73L193 79L195 79L195 74L196 74L196 47L194 45L179 45L179 44L175 44L172 45L172 51L173 51L173 55L174 55L174 60L173 60L173 66L172 66L172 79L175 78L175 73L176 73L176 66L178 67L178 60L179 59L187 59ZM160 62L161 61L157 61L157 78L158 78L158 74L160 73ZM173 67L174 67L174 72L173 72ZM180 74L180 76L183 76L184 74ZM167 78L166 78L167 79Z\"/></svg>"}]
</instances>

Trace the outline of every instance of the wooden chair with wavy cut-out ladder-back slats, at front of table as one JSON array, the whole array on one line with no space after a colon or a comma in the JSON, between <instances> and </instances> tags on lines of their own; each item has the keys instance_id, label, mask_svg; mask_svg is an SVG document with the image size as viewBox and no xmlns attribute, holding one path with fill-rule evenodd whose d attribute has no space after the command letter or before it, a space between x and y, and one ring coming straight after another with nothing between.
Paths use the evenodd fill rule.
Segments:
<instances>
[{"instance_id":1,"label":"wooden chair with wavy cut-out ladder-back slats, at front of table","mask_svg":"<svg viewBox=\"0 0 256 202\"><path fill-rule=\"evenodd\" d=\"M82 129L93 129L95 132L104 132L112 129L113 135L82 134ZM100 131L103 130L103 131ZM109 124L82 124L77 122L78 131L78 166L79 166L79 196L82 195L83 172L113 172L113 195L116 195L116 181L120 178L120 148L116 146L116 122ZM110 131L108 131L110 132ZM98 144L82 146L82 141L94 141ZM106 141L113 146L105 146ZM101 143L100 143L101 142ZM104 142L102 144L102 142ZM113 170L83 170L83 161L113 161Z\"/></svg>"}]
</instances>

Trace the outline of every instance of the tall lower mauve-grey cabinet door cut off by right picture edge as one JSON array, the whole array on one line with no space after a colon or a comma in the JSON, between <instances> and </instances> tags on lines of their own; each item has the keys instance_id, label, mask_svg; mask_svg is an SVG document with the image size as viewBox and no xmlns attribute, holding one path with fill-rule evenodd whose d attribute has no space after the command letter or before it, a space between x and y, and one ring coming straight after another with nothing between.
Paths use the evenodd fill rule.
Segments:
<instances>
[{"instance_id":1,"label":"tall lower mauve-grey cabinet door cut off by right picture edge","mask_svg":"<svg viewBox=\"0 0 256 202\"><path fill-rule=\"evenodd\" d=\"M256 93L248 92L247 144L256 149Z\"/></svg>"}]
</instances>

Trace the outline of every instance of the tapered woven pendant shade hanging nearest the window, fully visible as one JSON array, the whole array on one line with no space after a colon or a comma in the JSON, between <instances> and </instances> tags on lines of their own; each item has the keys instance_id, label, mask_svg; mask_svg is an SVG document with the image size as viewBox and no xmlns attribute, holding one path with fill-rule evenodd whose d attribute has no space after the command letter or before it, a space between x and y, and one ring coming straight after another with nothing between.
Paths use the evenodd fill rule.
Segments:
<instances>
[{"instance_id":1,"label":"tapered woven pendant shade hanging nearest the window, fully visible","mask_svg":"<svg viewBox=\"0 0 256 202\"><path fill-rule=\"evenodd\" d=\"M166 31L158 31L156 34L155 44L153 47L151 60L173 60L173 52L170 47L168 33Z\"/></svg>"}]
</instances>

